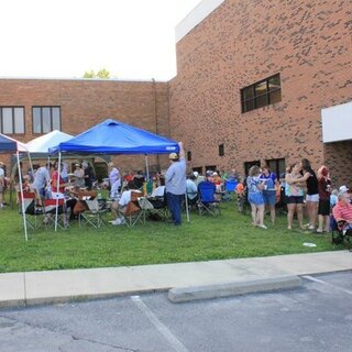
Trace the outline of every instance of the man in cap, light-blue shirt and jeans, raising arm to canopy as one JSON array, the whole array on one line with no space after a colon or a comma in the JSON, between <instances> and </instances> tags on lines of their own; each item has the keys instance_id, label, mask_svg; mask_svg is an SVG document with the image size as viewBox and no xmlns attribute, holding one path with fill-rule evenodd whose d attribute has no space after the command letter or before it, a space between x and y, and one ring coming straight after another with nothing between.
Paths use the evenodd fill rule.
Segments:
<instances>
[{"instance_id":1,"label":"man in cap, light-blue shirt and jeans, raising arm to canopy","mask_svg":"<svg viewBox=\"0 0 352 352\"><path fill-rule=\"evenodd\" d=\"M180 226L180 205L186 193L186 160L183 143L179 142L179 154L170 153L170 165L165 175L167 207L175 226Z\"/></svg>"}]
</instances>

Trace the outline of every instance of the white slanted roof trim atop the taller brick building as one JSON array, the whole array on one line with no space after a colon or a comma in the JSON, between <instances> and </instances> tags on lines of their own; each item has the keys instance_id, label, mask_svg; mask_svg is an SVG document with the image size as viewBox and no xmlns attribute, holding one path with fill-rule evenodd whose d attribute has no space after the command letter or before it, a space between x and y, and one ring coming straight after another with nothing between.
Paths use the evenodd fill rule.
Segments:
<instances>
[{"instance_id":1,"label":"white slanted roof trim atop the taller brick building","mask_svg":"<svg viewBox=\"0 0 352 352\"><path fill-rule=\"evenodd\" d=\"M176 43L189 33L198 23L207 18L224 0L204 0L191 10L176 26Z\"/></svg>"}]
</instances>

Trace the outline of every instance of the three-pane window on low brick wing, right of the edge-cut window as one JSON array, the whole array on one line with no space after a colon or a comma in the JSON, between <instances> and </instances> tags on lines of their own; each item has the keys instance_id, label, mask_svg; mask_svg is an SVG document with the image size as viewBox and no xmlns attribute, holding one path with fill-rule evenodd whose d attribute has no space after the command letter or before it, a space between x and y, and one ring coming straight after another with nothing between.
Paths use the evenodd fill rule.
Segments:
<instances>
[{"instance_id":1,"label":"three-pane window on low brick wing, right of the edge-cut window","mask_svg":"<svg viewBox=\"0 0 352 352\"><path fill-rule=\"evenodd\" d=\"M33 133L61 131L61 107L32 107Z\"/></svg>"}]
</instances>

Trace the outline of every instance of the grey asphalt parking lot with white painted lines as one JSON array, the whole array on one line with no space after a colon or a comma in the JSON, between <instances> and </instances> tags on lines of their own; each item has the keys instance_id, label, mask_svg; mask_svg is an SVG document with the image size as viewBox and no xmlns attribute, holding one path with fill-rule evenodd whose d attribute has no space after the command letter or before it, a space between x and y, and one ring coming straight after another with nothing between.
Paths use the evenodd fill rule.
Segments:
<instances>
[{"instance_id":1,"label":"grey asphalt parking lot with white painted lines","mask_svg":"<svg viewBox=\"0 0 352 352\"><path fill-rule=\"evenodd\" d=\"M0 351L350 352L352 272L299 289L173 304L167 294L0 310Z\"/></svg>"}]
</instances>

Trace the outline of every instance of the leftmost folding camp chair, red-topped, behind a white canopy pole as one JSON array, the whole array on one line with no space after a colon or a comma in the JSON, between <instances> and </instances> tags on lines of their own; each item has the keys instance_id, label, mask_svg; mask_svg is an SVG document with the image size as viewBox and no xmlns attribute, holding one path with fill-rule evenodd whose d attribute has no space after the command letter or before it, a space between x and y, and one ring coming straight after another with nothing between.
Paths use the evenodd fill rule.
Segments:
<instances>
[{"instance_id":1,"label":"leftmost folding camp chair, red-topped, behind a white canopy pole","mask_svg":"<svg viewBox=\"0 0 352 352\"><path fill-rule=\"evenodd\" d=\"M22 201L24 206L25 222L29 229L36 230L41 227L42 221L38 217L43 216L43 208L36 202L37 197L34 191L23 191L23 199L21 193L18 193L19 212L22 213ZM42 220L42 219L41 219Z\"/></svg>"}]
</instances>

